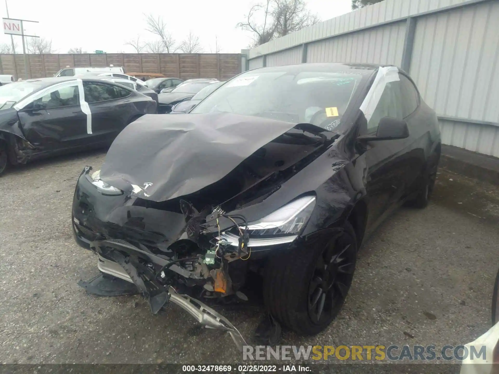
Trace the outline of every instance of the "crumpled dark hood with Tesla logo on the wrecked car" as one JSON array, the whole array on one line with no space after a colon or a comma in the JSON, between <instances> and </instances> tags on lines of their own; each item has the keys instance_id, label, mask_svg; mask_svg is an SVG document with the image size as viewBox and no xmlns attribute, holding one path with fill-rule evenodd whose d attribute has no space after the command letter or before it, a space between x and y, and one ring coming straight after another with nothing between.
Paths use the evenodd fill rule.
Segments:
<instances>
[{"instance_id":1,"label":"crumpled dark hood with Tesla logo on the wrecked car","mask_svg":"<svg viewBox=\"0 0 499 374\"><path fill-rule=\"evenodd\" d=\"M232 113L148 114L114 140L100 179L148 200L184 196L221 180L294 126Z\"/></svg>"}]
</instances>

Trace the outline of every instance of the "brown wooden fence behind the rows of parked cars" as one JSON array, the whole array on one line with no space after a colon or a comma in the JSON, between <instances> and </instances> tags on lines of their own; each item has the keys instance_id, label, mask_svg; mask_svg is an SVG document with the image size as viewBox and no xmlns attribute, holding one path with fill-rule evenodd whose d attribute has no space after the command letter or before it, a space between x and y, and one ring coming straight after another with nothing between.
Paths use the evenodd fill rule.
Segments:
<instances>
[{"instance_id":1,"label":"brown wooden fence behind the rows of parked cars","mask_svg":"<svg viewBox=\"0 0 499 374\"><path fill-rule=\"evenodd\" d=\"M66 67L123 66L128 72L161 73L182 79L227 80L241 72L239 53L29 54L28 77L51 77ZM0 54L0 73L25 79L22 54Z\"/></svg>"}]
</instances>

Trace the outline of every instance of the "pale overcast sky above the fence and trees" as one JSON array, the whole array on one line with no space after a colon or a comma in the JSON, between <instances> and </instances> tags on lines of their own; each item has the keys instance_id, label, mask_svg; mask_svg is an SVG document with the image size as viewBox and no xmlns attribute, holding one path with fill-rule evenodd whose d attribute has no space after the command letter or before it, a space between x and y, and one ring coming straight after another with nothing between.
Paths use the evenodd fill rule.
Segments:
<instances>
[{"instance_id":1,"label":"pale overcast sky above the fence and trees","mask_svg":"<svg viewBox=\"0 0 499 374\"><path fill-rule=\"evenodd\" d=\"M136 38L154 40L145 30L143 13L162 15L174 38L180 42L192 31L200 37L205 52L215 52L215 37L223 53L239 53L248 46L251 34L236 27L245 19L251 5L258 0L7 0L11 18L39 21L24 23L25 33L52 39L58 53L82 47L84 51L103 50L108 53L131 53L125 45ZM321 20L350 11L350 0L307 0L309 9ZM73 5L74 4L74 5ZM79 5L76 5L79 4ZM0 14L6 17L4 0ZM22 50L21 37L14 35L16 52ZM10 36L0 34L0 43L10 43Z\"/></svg>"}]
</instances>

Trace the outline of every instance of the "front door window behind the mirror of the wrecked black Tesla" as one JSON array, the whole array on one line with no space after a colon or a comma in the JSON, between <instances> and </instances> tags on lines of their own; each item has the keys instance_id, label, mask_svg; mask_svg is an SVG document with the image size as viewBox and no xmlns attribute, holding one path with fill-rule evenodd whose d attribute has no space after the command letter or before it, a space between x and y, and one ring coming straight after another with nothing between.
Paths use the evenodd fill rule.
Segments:
<instances>
[{"instance_id":1,"label":"front door window behind the mirror of the wrecked black Tesla","mask_svg":"<svg viewBox=\"0 0 499 374\"><path fill-rule=\"evenodd\" d=\"M381 98L374 109L371 119L367 123L367 134L376 132L379 121L383 117L393 117L403 119L402 100L400 94L400 81L386 84Z\"/></svg>"}]
</instances>

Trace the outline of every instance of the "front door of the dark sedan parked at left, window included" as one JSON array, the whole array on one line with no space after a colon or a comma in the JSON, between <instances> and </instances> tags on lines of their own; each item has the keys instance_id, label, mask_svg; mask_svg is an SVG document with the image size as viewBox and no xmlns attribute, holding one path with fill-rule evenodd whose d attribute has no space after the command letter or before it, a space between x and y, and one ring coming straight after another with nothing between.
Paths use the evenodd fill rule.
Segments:
<instances>
[{"instance_id":1,"label":"front door of the dark sedan parked at left, window included","mask_svg":"<svg viewBox=\"0 0 499 374\"><path fill-rule=\"evenodd\" d=\"M26 139L42 151L88 144L87 115L80 104L76 80L33 95L33 101L18 113Z\"/></svg>"}]
</instances>

